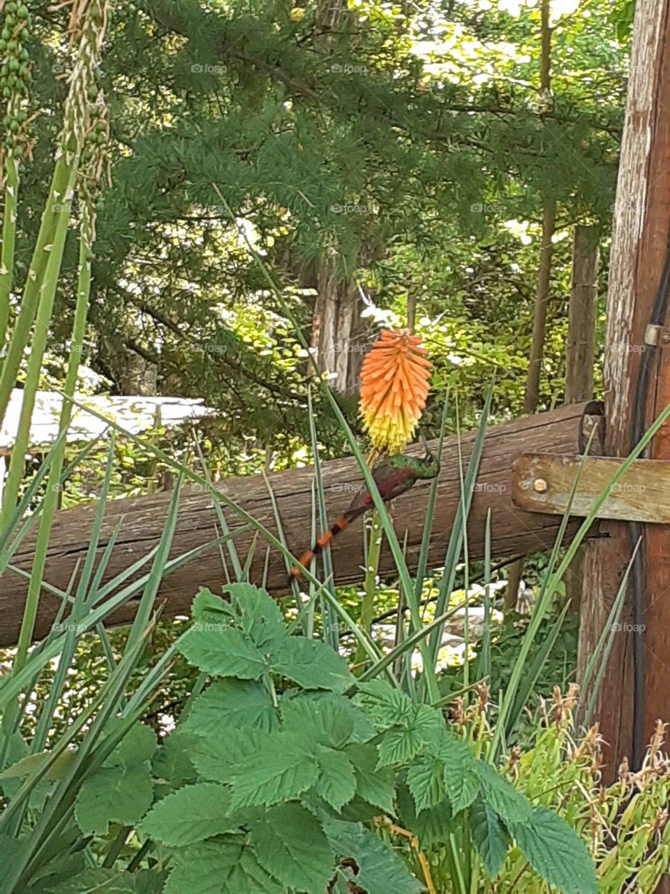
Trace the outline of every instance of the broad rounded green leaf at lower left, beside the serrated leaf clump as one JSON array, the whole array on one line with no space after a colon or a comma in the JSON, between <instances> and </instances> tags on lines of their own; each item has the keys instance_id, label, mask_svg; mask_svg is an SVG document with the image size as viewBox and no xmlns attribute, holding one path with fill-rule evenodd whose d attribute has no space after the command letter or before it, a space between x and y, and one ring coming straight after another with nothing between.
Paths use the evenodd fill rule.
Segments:
<instances>
[{"instance_id":1,"label":"broad rounded green leaf at lower left, beside the serrated leaf clump","mask_svg":"<svg viewBox=\"0 0 670 894\"><path fill-rule=\"evenodd\" d=\"M124 769L102 767L84 780L74 807L80 830L106 835L110 822L132 826L154 799L151 775L144 765Z\"/></svg>"}]
</instances>

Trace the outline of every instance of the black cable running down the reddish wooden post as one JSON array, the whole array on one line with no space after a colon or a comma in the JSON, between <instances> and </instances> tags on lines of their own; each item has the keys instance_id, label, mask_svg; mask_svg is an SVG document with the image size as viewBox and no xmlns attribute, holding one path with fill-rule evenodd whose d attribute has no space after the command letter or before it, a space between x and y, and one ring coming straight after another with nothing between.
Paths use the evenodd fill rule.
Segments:
<instances>
[{"instance_id":1,"label":"black cable running down the reddish wooden post","mask_svg":"<svg viewBox=\"0 0 670 894\"><path fill-rule=\"evenodd\" d=\"M668 232L670 240L670 232ZM670 242L666 249L666 262L658 284L654 306L651 311L650 325L661 326L666 321L668 299L670 298ZM647 401L649 392L649 375L651 374L652 360L656 356L656 345L646 345L641 353L640 369L638 370L637 384L635 385L635 398L632 407L631 419L631 451L641 441L647 428ZM644 527L638 521L629 523L631 537L631 550L634 552L637 545L644 539ZM645 555L643 549L634 552L632 561L632 765L635 770L640 769L645 752L644 741L644 584L647 578Z\"/></svg>"}]
</instances>

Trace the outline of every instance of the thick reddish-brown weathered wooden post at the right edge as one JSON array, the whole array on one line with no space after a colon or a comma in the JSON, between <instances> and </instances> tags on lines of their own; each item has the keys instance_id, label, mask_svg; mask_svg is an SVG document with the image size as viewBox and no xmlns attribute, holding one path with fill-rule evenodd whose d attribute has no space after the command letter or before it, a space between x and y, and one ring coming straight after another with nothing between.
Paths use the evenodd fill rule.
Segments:
<instances>
[{"instance_id":1,"label":"thick reddish-brown weathered wooden post at the right edge","mask_svg":"<svg viewBox=\"0 0 670 894\"><path fill-rule=\"evenodd\" d=\"M607 296L605 353L606 441L609 456L630 451L641 358L648 347L649 323L668 325L654 316L655 296L666 260L670 220L670 0L639 0L635 10L631 77L624 123L624 138ZM668 400L666 348L655 349L660 364L650 361L649 392L642 395L649 409L658 395ZM649 362L646 360L646 362ZM653 408L657 411L657 407ZM659 433L650 451L658 456L667 443ZM667 453L664 454L667 458ZM587 548L582 595L579 662L583 669L607 621L616 590L631 556L629 526L601 526L607 537ZM662 526L650 525L642 546L647 576L642 568L644 638L633 631L632 599L624 625L614 637L607 670L599 692L596 716L609 748L608 778L624 755L632 755L632 730L641 717L641 736L649 738L652 718L670 717L667 687L670 682L670 600L666 587L670 542ZM628 623L628 627L625 624ZM633 638L637 649L633 650ZM644 656L644 712L633 710L633 651ZM638 667L640 666L638 662ZM642 705L640 705L642 707ZM637 737L640 738L640 737ZM638 755L639 757L639 755ZM667 890L666 887L658 890Z\"/></svg>"}]
</instances>

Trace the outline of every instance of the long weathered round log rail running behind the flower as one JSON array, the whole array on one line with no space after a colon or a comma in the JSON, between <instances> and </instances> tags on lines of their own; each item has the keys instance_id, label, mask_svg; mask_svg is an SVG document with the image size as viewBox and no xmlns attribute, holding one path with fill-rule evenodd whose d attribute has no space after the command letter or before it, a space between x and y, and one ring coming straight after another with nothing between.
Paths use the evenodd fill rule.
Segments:
<instances>
[{"instance_id":1,"label":"long weathered round log rail running behind the flower","mask_svg":"<svg viewBox=\"0 0 670 894\"><path fill-rule=\"evenodd\" d=\"M484 527L488 510L491 510L491 555L493 559L512 557L527 552L549 548L553 544L560 525L556 515L541 515L516 509L512 503L511 471L521 453L551 451L573 455L582 449L585 420L587 427L594 420L601 421L600 409L594 403L575 403L570 406L515 420L504 425L492 426L485 438L480 473L473 493L473 505L468 520L468 553L471 559L481 559L484 550ZM598 428L600 426L598 425ZM588 434L587 434L588 436ZM474 433L461 439L464 464L473 447ZM435 446L433 444L433 446ZM417 446L415 452L420 451ZM599 453L599 438L594 439L592 453ZM290 469L270 478L275 500L281 514L287 542L293 552L301 552L307 545L311 529L312 468ZM323 464L323 486L331 518L346 509L357 486L362 481L354 460L333 460ZM219 486L227 497L234 500L258 519L273 533L274 521L270 496L259 476L229 478ZM430 483L417 483L409 492L398 497L392 504L398 537L402 543L407 536L407 562L414 569L418 559L426 502ZM440 567L445 558L449 533L461 499L458 442L456 437L445 440L438 499L436 502L429 562ZM104 580L109 580L127 569L133 562L157 544L170 493L137 497L110 502L105 510L105 521L98 545L97 559L102 556L113 529L121 518L121 529L113 548L111 561ZM95 506L65 510L56 515L46 561L45 581L60 590L66 590L71 582L77 563L83 563L88 548ZM231 510L225 510L230 527L239 524ZM195 488L184 488L180 495L180 510L172 545L172 556L187 552L212 540L218 532L217 517L212 499L207 493ZM360 521L349 527L334 542L333 566L335 580L346 584L363 577L363 538ZM241 532L235 544L242 561L247 556L255 533ZM13 557L13 565L29 571L34 551L34 538L27 537ZM224 550L225 551L225 550ZM260 582L264 575L265 546L255 544L250 579ZM147 567L143 569L146 573ZM393 561L389 550L381 555L381 574L392 574ZM168 615L188 614L190 604L200 586L214 591L222 585L225 575L220 553L206 552L197 561L177 569L161 582L159 600L165 601L164 612ZM287 572L284 560L272 552L268 563L268 590L275 595L287 592ZM21 614L26 595L26 579L13 569L0 577L0 645L13 644L18 636ZM37 637L44 637L54 621L59 600L44 591L40 603ZM110 623L122 623L132 618L133 603L127 603L116 611Z\"/></svg>"}]
</instances>

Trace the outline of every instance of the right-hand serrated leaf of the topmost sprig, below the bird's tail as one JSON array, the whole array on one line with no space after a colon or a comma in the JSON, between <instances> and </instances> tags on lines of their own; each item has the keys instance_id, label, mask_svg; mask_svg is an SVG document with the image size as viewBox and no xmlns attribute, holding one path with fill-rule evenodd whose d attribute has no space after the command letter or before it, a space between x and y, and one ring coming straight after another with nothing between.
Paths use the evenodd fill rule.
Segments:
<instances>
[{"instance_id":1,"label":"right-hand serrated leaf of the topmost sprig, below the bird's tail","mask_svg":"<svg viewBox=\"0 0 670 894\"><path fill-rule=\"evenodd\" d=\"M304 689L344 692L354 682L345 658L329 645L304 637L287 637L272 655L272 671Z\"/></svg>"}]
</instances>

